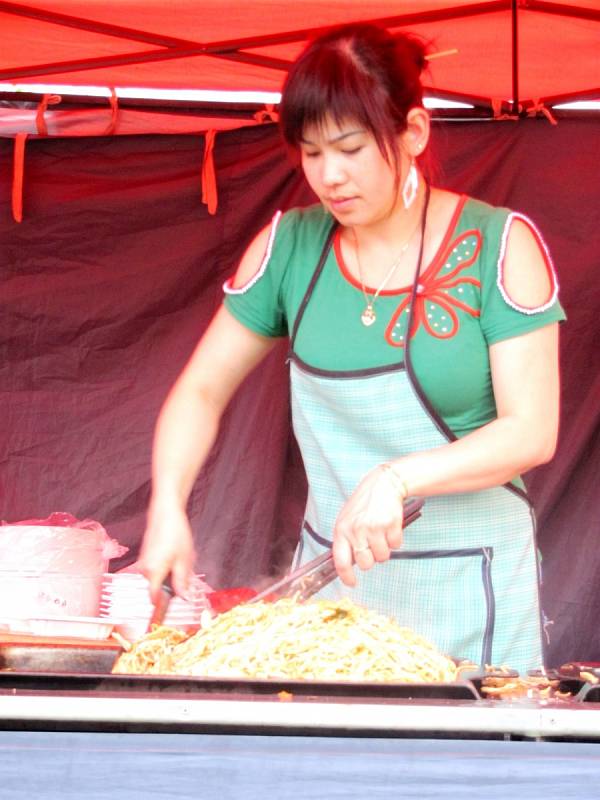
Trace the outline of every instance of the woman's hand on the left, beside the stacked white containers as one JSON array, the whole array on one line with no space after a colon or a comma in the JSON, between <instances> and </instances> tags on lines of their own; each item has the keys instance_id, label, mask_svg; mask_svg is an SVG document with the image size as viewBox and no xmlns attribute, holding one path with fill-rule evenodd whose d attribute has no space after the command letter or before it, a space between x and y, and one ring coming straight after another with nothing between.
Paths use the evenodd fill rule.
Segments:
<instances>
[{"instance_id":1,"label":"woman's hand on the left, beside the stacked white containers","mask_svg":"<svg viewBox=\"0 0 600 800\"><path fill-rule=\"evenodd\" d=\"M138 567L150 581L153 602L169 574L175 593L187 595L194 571L194 540L187 514L180 506L150 505Z\"/></svg>"}]
</instances>

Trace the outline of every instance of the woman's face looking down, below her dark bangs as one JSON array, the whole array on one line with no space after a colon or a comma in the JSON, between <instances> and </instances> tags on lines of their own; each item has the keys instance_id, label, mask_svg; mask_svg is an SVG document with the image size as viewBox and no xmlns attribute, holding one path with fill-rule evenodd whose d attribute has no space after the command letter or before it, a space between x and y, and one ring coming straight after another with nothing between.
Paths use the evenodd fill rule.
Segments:
<instances>
[{"instance_id":1,"label":"woman's face looking down, below her dark bangs","mask_svg":"<svg viewBox=\"0 0 600 800\"><path fill-rule=\"evenodd\" d=\"M360 124L326 118L304 130L300 150L308 183L342 225L372 225L394 211L399 191L393 158L385 160Z\"/></svg>"}]
</instances>

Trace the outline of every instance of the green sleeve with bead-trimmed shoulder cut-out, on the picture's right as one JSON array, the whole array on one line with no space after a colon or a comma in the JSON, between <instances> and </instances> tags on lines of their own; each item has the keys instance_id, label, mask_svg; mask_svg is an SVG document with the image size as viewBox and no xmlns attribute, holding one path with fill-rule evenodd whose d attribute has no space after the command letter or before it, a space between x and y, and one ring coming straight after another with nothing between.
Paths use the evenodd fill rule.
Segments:
<instances>
[{"instance_id":1,"label":"green sleeve with bead-trimmed shoulder cut-out, on the picture's right","mask_svg":"<svg viewBox=\"0 0 600 800\"><path fill-rule=\"evenodd\" d=\"M488 239L482 274L481 325L489 344L565 319L554 264L539 230L523 214L496 213L504 217L499 242Z\"/></svg>"}]
</instances>

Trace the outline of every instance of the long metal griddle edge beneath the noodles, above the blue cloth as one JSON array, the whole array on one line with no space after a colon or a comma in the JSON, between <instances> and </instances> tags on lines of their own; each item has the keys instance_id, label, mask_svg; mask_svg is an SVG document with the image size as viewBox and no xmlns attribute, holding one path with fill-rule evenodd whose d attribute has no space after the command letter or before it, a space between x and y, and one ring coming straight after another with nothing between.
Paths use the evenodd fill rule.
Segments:
<instances>
[{"instance_id":1,"label":"long metal griddle edge beneath the noodles, above the blue cloth","mask_svg":"<svg viewBox=\"0 0 600 800\"><path fill-rule=\"evenodd\" d=\"M576 687L574 687L576 688ZM584 702L582 702L584 700ZM0 673L0 730L600 740L600 703L452 684Z\"/></svg>"}]
</instances>

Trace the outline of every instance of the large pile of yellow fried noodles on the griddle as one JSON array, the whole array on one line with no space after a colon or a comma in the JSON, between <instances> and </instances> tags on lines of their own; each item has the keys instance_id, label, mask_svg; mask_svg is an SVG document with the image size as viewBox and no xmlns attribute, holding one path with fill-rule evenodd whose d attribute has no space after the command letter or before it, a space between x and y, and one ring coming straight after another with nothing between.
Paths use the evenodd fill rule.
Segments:
<instances>
[{"instance_id":1,"label":"large pile of yellow fried noodles on the griddle","mask_svg":"<svg viewBox=\"0 0 600 800\"><path fill-rule=\"evenodd\" d=\"M189 637L156 628L113 672L442 683L457 671L426 639L350 600L285 598L236 606Z\"/></svg>"}]
</instances>

